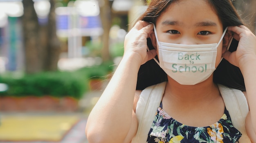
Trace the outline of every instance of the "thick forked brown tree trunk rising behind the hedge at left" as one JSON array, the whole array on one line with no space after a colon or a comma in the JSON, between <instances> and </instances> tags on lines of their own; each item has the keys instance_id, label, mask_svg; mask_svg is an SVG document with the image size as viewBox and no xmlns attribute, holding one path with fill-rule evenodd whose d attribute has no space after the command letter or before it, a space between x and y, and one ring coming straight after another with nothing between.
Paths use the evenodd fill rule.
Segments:
<instances>
[{"instance_id":1,"label":"thick forked brown tree trunk rising behind the hedge at left","mask_svg":"<svg viewBox=\"0 0 256 143\"><path fill-rule=\"evenodd\" d=\"M57 70L60 42L56 36L55 1L49 0L49 2L51 4L49 20L45 25L39 25L33 0L22 1L25 71L28 74Z\"/></svg>"}]
</instances>

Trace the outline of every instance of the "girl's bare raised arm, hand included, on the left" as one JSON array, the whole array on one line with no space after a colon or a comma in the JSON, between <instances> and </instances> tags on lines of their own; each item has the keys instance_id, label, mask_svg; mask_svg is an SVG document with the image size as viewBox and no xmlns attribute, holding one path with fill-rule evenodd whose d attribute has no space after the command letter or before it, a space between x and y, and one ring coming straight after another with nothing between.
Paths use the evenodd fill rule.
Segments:
<instances>
[{"instance_id":1,"label":"girl's bare raised arm, hand included, on the left","mask_svg":"<svg viewBox=\"0 0 256 143\"><path fill-rule=\"evenodd\" d=\"M126 35L124 56L88 117L85 133L90 143L130 142L136 133L132 108L137 74L140 65L156 55L155 50L147 52L146 38L152 32L152 24L139 21Z\"/></svg>"}]
</instances>

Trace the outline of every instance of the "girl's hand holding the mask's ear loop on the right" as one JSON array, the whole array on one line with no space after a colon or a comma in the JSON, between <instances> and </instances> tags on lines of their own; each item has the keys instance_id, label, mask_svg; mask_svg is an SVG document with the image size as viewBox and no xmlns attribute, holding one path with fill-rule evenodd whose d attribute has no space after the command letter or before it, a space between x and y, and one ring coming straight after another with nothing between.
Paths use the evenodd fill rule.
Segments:
<instances>
[{"instance_id":1,"label":"girl's hand holding the mask's ear loop on the right","mask_svg":"<svg viewBox=\"0 0 256 143\"><path fill-rule=\"evenodd\" d=\"M234 38L238 40L237 50L234 52L225 51L222 57L232 65L243 68L247 62L256 61L256 36L244 25L228 27L234 33Z\"/></svg>"}]
</instances>

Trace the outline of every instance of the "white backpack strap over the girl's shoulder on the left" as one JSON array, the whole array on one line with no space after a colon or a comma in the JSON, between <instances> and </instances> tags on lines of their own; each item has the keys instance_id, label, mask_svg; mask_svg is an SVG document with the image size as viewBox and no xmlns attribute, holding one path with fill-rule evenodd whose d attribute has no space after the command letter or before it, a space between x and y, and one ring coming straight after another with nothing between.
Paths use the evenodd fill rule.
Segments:
<instances>
[{"instance_id":1,"label":"white backpack strap over the girl's shoulder on the left","mask_svg":"<svg viewBox=\"0 0 256 143\"><path fill-rule=\"evenodd\" d=\"M141 92L135 113L138 120L138 129L132 143L146 143L157 107L162 101L165 85L166 82L152 85Z\"/></svg>"}]
</instances>

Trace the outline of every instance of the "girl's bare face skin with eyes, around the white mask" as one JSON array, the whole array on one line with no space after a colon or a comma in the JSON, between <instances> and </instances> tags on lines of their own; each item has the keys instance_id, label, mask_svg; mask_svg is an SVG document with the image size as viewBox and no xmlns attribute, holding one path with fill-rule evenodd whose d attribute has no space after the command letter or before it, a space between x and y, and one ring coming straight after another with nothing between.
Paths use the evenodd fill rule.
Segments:
<instances>
[{"instance_id":1,"label":"girl's bare face skin with eyes, around the white mask","mask_svg":"<svg viewBox=\"0 0 256 143\"><path fill-rule=\"evenodd\" d=\"M173 2L157 18L156 31L159 42L213 44L220 41L223 27L216 12L206 0L179 0ZM157 45L155 40L153 45ZM158 49L158 45L156 47ZM220 63L222 42L217 51L216 66Z\"/></svg>"}]
</instances>

